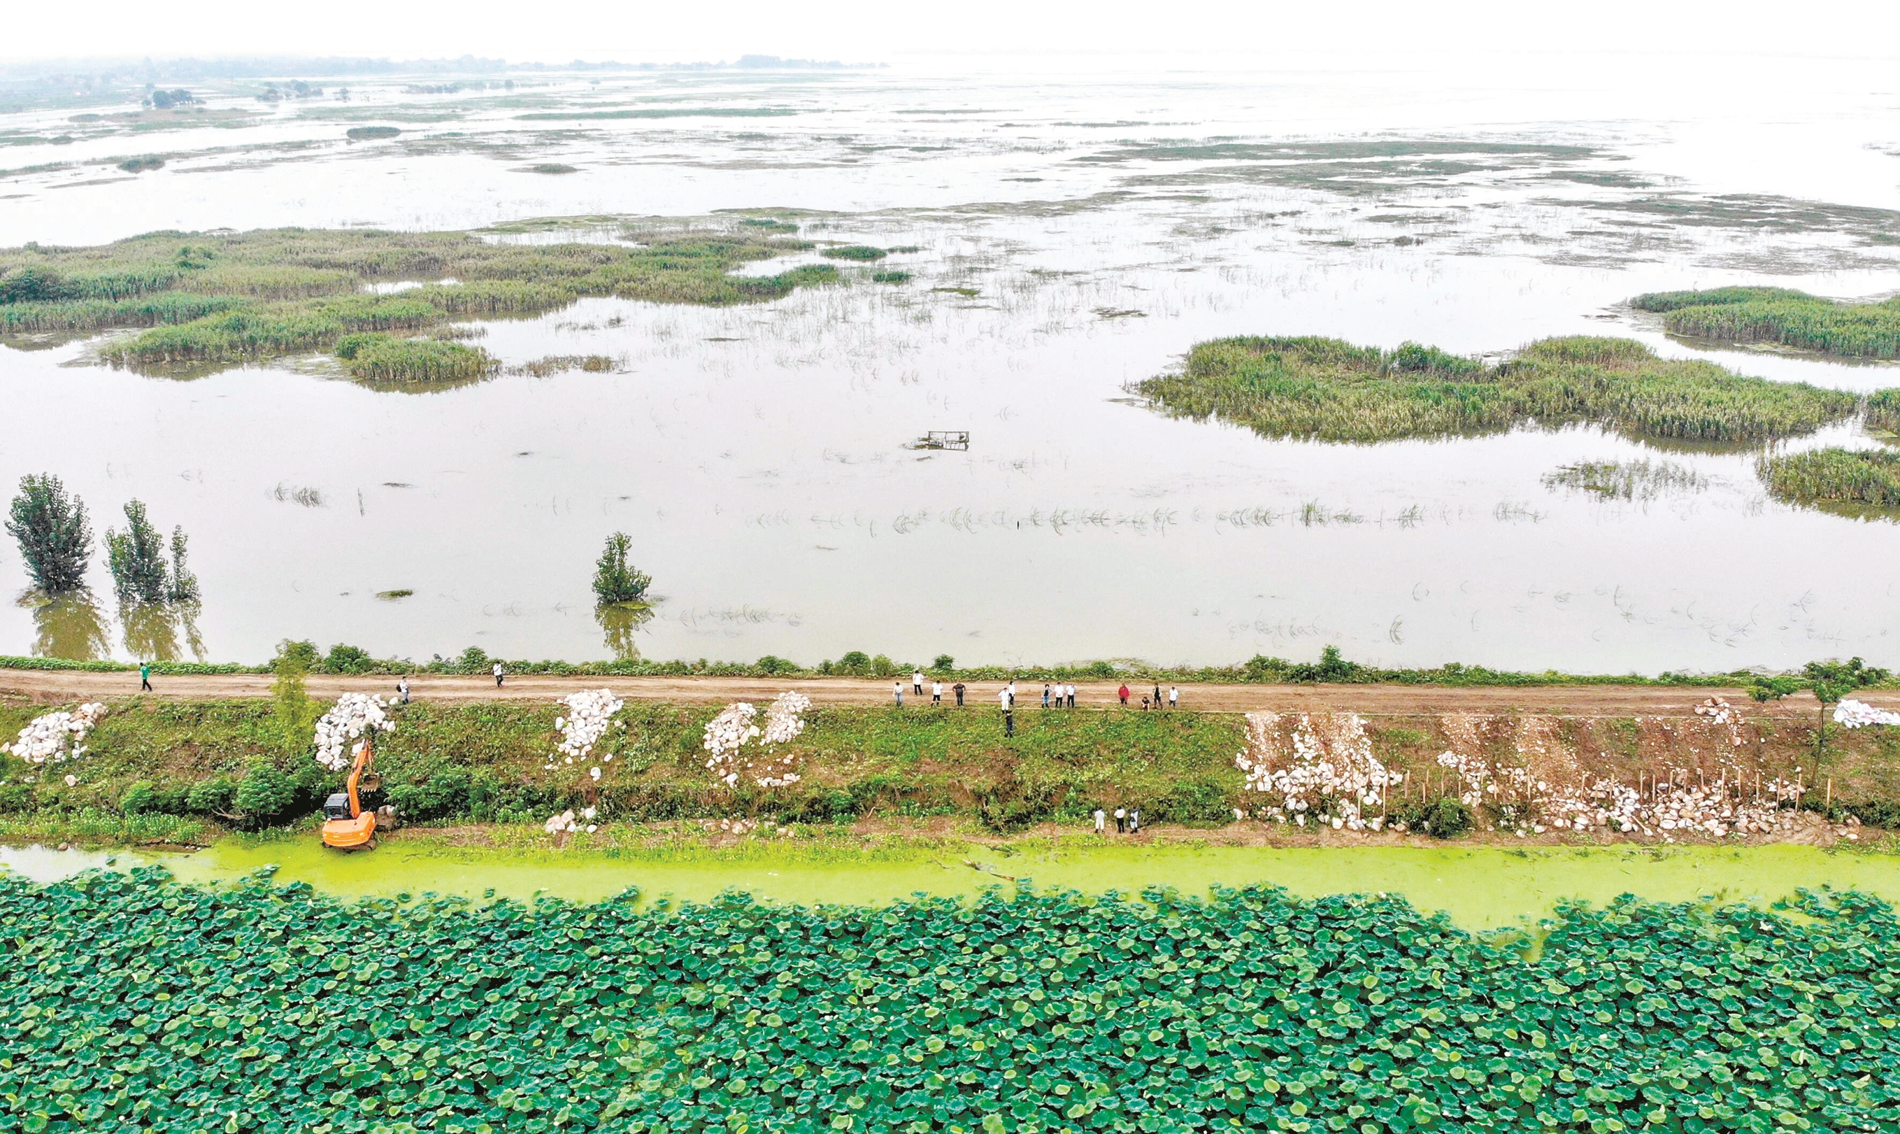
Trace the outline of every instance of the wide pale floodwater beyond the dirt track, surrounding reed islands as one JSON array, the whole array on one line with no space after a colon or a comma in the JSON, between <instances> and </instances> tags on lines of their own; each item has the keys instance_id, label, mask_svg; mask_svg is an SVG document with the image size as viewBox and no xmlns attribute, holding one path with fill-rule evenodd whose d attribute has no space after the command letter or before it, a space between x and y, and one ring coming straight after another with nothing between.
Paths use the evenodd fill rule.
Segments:
<instances>
[{"instance_id":1,"label":"wide pale floodwater beyond the dirt track, surrounding reed islands","mask_svg":"<svg viewBox=\"0 0 1900 1134\"><path fill-rule=\"evenodd\" d=\"M1737 68L1759 97L1708 99ZM479 342L505 363L604 353L618 372L433 393L312 361L177 380L89 365L87 342L0 346L0 482L59 473L101 532L142 500L190 534L203 585L165 627L104 598L4 604L0 653L255 661L289 636L608 657L589 579L625 530L661 598L633 634L652 659L1890 661L1900 524L1775 503L1752 450L1586 427L1265 441L1125 391L1220 334L1461 353L1626 334L1778 380L1900 386L1894 367L1672 342L1619 308L1727 283L1900 291L1890 74L1659 70L920 65L232 91L209 101L222 123L142 133L4 116L0 141L74 141L0 148L0 245L796 207L823 213L808 237L922 251L878 264L906 285L847 268L773 304L490 323ZM669 116L560 118L652 110ZM365 123L403 133L344 141ZM139 154L165 167L116 169ZM574 224L494 237L618 234ZM929 429L969 429L969 452L906 448ZM1834 443L1875 444L1858 424L1796 444ZM1619 463L1628 494L1577 488L1579 463ZM106 596L103 555L93 576ZM0 585L23 583L0 549Z\"/></svg>"}]
</instances>

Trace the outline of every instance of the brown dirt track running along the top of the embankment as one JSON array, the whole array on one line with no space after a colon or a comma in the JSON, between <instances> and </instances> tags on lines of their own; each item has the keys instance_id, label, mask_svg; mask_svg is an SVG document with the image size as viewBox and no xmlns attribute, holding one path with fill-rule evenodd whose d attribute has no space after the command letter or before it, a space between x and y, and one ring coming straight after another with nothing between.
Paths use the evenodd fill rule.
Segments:
<instances>
[{"instance_id":1,"label":"brown dirt track running along the top of the embankment","mask_svg":"<svg viewBox=\"0 0 1900 1134\"><path fill-rule=\"evenodd\" d=\"M889 705L891 682L878 678L553 678L511 676L498 690L492 678L412 676L410 695L416 701L553 701L576 690L614 690L619 697L644 701L676 701L714 705L726 701L770 701L783 690L800 690L819 705ZM268 697L268 674L218 676L154 676L152 697L162 699L228 699ZM1119 682L1077 682L1077 707L1115 705ZM336 697L344 691L395 693L391 676L321 676L308 678L315 697ZM904 709L929 707L929 682L923 697L904 682ZM971 682L965 693L973 709L994 709L999 682ZM1140 705L1144 686L1129 684L1130 703ZM1153 693L1153 686L1146 686ZM1661 686L1548 686L1548 688L1444 688L1444 686L1180 686L1182 710L1244 712L1254 709L1311 710L1349 709L1366 716L1414 716L1433 712L1548 712L1558 716L1689 716L1704 697L1725 697L1746 703L1742 690L1661 688ZM120 699L139 693L137 672L76 672L0 669L0 697L66 703L82 699ZM1163 695L1167 686L1163 684ZM1041 682L1018 682L1016 705L1041 707ZM1864 701L1881 709L1900 709L1900 693L1870 691ZM948 684L944 703L952 701ZM1813 716L1814 699L1797 693L1786 701L1769 703L1761 710L1775 716Z\"/></svg>"}]
</instances>

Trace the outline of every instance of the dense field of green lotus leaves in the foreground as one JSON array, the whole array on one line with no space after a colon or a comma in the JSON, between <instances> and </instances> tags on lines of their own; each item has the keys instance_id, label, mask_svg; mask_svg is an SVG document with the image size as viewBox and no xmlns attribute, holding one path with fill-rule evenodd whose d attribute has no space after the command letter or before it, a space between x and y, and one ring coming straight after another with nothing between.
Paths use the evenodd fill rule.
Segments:
<instances>
[{"instance_id":1,"label":"dense field of green lotus leaves in the foreground","mask_svg":"<svg viewBox=\"0 0 1900 1134\"><path fill-rule=\"evenodd\" d=\"M1020 887L889 908L0 881L0 1130L1900 1130L1900 925Z\"/></svg>"}]
</instances>

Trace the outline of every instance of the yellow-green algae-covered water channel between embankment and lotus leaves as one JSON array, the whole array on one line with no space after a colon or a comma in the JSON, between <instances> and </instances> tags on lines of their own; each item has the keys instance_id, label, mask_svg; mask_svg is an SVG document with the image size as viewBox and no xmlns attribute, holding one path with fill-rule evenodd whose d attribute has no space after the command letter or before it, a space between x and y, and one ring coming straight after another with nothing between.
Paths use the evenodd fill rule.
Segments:
<instances>
[{"instance_id":1,"label":"yellow-green algae-covered water channel between embankment and lotus leaves","mask_svg":"<svg viewBox=\"0 0 1900 1134\"><path fill-rule=\"evenodd\" d=\"M965 859L986 868L975 870ZM32 881L80 870L146 864L131 853L0 847L0 866ZM1056 845L998 855L988 847L882 853L750 847L739 851L471 851L386 841L338 855L304 841L224 841L188 857L162 857L179 879L215 883L276 866L276 881L308 881L355 897L462 895L532 902L547 895L597 902L629 887L642 900L711 900L745 891L787 904L882 904L916 893L971 897L1024 879L1037 889L1138 895L1168 885L1205 895L1212 885L1279 885L1300 897L1398 893L1419 910L1444 910L1465 929L1535 919L1560 900L1604 904L1619 895L1659 902L1718 898L1767 904L1797 889L1856 889L1900 900L1900 859L1814 847L1100 847ZM1007 878L1005 878L1007 876ZM490 893L492 891L492 893Z\"/></svg>"}]
</instances>

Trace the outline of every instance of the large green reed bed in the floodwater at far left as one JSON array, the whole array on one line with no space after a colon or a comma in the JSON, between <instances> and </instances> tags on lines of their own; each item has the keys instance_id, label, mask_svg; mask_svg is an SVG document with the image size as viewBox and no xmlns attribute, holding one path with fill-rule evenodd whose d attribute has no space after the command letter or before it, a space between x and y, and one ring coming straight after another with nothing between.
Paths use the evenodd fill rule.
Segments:
<instances>
[{"instance_id":1,"label":"large green reed bed in the floodwater at far left","mask_svg":"<svg viewBox=\"0 0 1900 1134\"><path fill-rule=\"evenodd\" d=\"M811 247L745 226L638 239L524 245L471 232L277 228L25 245L0 249L0 334L141 327L114 344L114 357L135 367L224 367L334 350L365 332L414 336L452 319L536 315L581 296L743 304L838 275L830 266L732 275L741 264ZM418 287L365 291L370 283ZM352 372L382 382L492 370L477 348L378 342L363 353Z\"/></svg>"}]
</instances>

